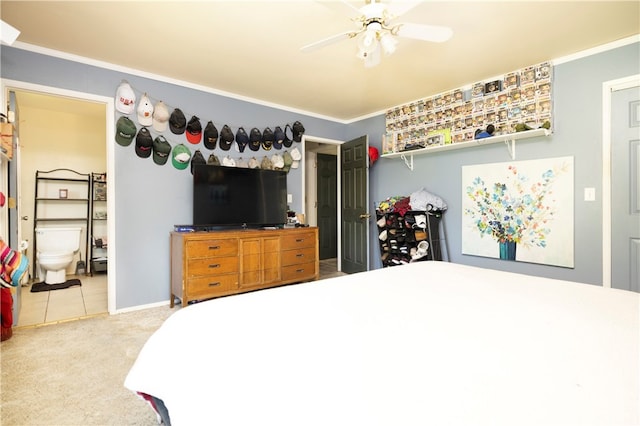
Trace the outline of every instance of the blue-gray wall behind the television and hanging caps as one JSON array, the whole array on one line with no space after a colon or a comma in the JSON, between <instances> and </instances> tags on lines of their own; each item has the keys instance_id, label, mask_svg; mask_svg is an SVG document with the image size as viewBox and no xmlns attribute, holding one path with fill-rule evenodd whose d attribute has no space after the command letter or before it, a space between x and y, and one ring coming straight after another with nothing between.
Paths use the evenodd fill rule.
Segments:
<instances>
[{"instance_id":1,"label":"blue-gray wall behind the television and hanging caps","mask_svg":"<svg viewBox=\"0 0 640 426\"><path fill-rule=\"evenodd\" d=\"M203 125L213 120L218 129L219 124L225 123L235 132L239 126L249 131L254 126L273 128L300 120L307 134L344 139L346 126L333 121L16 48L2 46L1 54L1 73L5 79L106 97L113 97L125 79L136 91L147 92L170 107L181 108L187 119L197 115L204 121ZM184 136L175 142L178 141L189 145ZM202 143L197 147L208 157L210 151ZM221 159L227 154L240 156L233 149L218 148L216 154ZM245 159L249 158L245 154ZM174 224L192 222L192 175L189 169L176 170L170 163L160 167L151 159L138 158L133 144L116 145L114 162L116 179L111 181L115 181L116 194L116 309L166 301L169 298L169 232ZM291 208L297 211L301 211L302 206L301 181L301 169L292 169L287 189L293 195Z\"/></svg>"}]
</instances>

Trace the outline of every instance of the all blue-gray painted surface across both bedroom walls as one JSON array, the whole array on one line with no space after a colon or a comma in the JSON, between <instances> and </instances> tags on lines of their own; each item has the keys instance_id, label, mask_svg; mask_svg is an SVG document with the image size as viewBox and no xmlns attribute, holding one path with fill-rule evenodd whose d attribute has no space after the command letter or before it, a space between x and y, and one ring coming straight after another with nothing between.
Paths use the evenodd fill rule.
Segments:
<instances>
[{"instance_id":1,"label":"all blue-gray painted surface across both bedroom walls","mask_svg":"<svg viewBox=\"0 0 640 426\"><path fill-rule=\"evenodd\" d=\"M410 171L399 159L381 159L371 169L370 200L409 195L422 187L447 202L445 215L450 259L453 262L523 272L552 278L598 284L602 276L602 203L582 200L582 188L602 193L601 135L602 83L640 73L639 44L555 66L554 134L518 142L516 160L572 155L575 157L575 268L557 268L521 262L504 262L461 254L461 167L468 164L509 161L502 144L416 156ZM137 89L178 106L205 122L264 128L300 120L307 134L348 140L370 135L380 148L384 116L349 125L265 107L224 96L111 71L15 48L2 47L2 78L111 97L122 79ZM553 58L549 58L553 59ZM126 65L126 64L123 64ZM509 72L511 70L505 70ZM283 88L286 90L286 88ZM416 98L431 93L416 93ZM304 96L304 94L301 94ZM116 308L162 302L169 297L169 237L174 224L191 222L191 174L142 161L132 149L115 147L117 300ZM131 147L129 147L131 148ZM203 149L205 157L208 151ZM217 154L226 152L217 151ZM293 171L289 192L292 207L300 210L300 171ZM373 230L373 227L372 227ZM371 259L380 267L375 233Z\"/></svg>"}]
</instances>

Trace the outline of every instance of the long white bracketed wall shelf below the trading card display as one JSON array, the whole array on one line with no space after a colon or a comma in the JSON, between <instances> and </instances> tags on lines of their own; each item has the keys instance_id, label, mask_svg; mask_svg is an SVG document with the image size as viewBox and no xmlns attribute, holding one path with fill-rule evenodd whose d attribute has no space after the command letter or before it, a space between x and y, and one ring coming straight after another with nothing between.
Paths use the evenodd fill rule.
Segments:
<instances>
[{"instance_id":1,"label":"long white bracketed wall shelf below the trading card display","mask_svg":"<svg viewBox=\"0 0 640 426\"><path fill-rule=\"evenodd\" d=\"M506 135L491 136L489 138L474 139L467 142L451 143L448 145L430 146L426 148L413 149L410 151L391 152L388 154L382 154L382 158L401 158L404 160L405 165L413 170L413 156L414 155L426 155L433 152L451 151L454 149L471 148L479 145L488 145L493 143L504 142L509 150L509 155L512 160L516 159L516 141L519 139L531 139L539 136L549 136L550 130L547 129L534 129L526 130L524 132L509 133Z\"/></svg>"}]
</instances>

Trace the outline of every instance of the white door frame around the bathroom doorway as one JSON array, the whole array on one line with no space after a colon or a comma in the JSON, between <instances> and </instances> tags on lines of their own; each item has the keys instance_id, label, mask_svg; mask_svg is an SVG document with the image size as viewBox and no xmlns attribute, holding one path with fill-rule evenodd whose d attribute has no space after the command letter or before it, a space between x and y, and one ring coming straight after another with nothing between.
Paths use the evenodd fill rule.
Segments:
<instances>
[{"instance_id":1,"label":"white door frame around the bathroom doorway","mask_svg":"<svg viewBox=\"0 0 640 426\"><path fill-rule=\"evenodd\" d=\"M27 83L17 80L0 80L0 102L6 105L9 91L30 91L45 95L63 96L81 101L91 101L105 104L105 123L106 123L106 140L107 147L107 176L109 177L109 185L107 185L107 309L109 314L116 313L116 197L115 197L115 161L114 161L114 143L109 143L115 139L115 102L113 97L99 96L92 93L77 92L74 90L60 89L58 87L42 86L39 84ZM18 148L19 149L19 148ZM19 157L18 157L19 158ZM18 188L20 187L20 176L18 175ZM20 195L18 194L18 197ZM20 201L18 200L18 205Z\"/></svg>"}]
</instances>

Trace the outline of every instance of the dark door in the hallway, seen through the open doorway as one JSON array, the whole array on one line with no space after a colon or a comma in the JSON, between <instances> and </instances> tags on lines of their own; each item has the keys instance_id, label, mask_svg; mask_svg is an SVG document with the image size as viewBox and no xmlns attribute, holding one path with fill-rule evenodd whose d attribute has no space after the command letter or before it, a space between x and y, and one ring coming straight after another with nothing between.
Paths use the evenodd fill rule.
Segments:
<instances>
[{"instance_id":1,"label":"dark door in the hallway, seen through the open doorway","mask_svg":"<svg viewBox=\"0 0 640 426\"><path fill-rule=\"evenodd\" d=\"M320 259L333 259L338 256L338 158L318 154L317 164Z\"/></svg>"}]
</instances>

